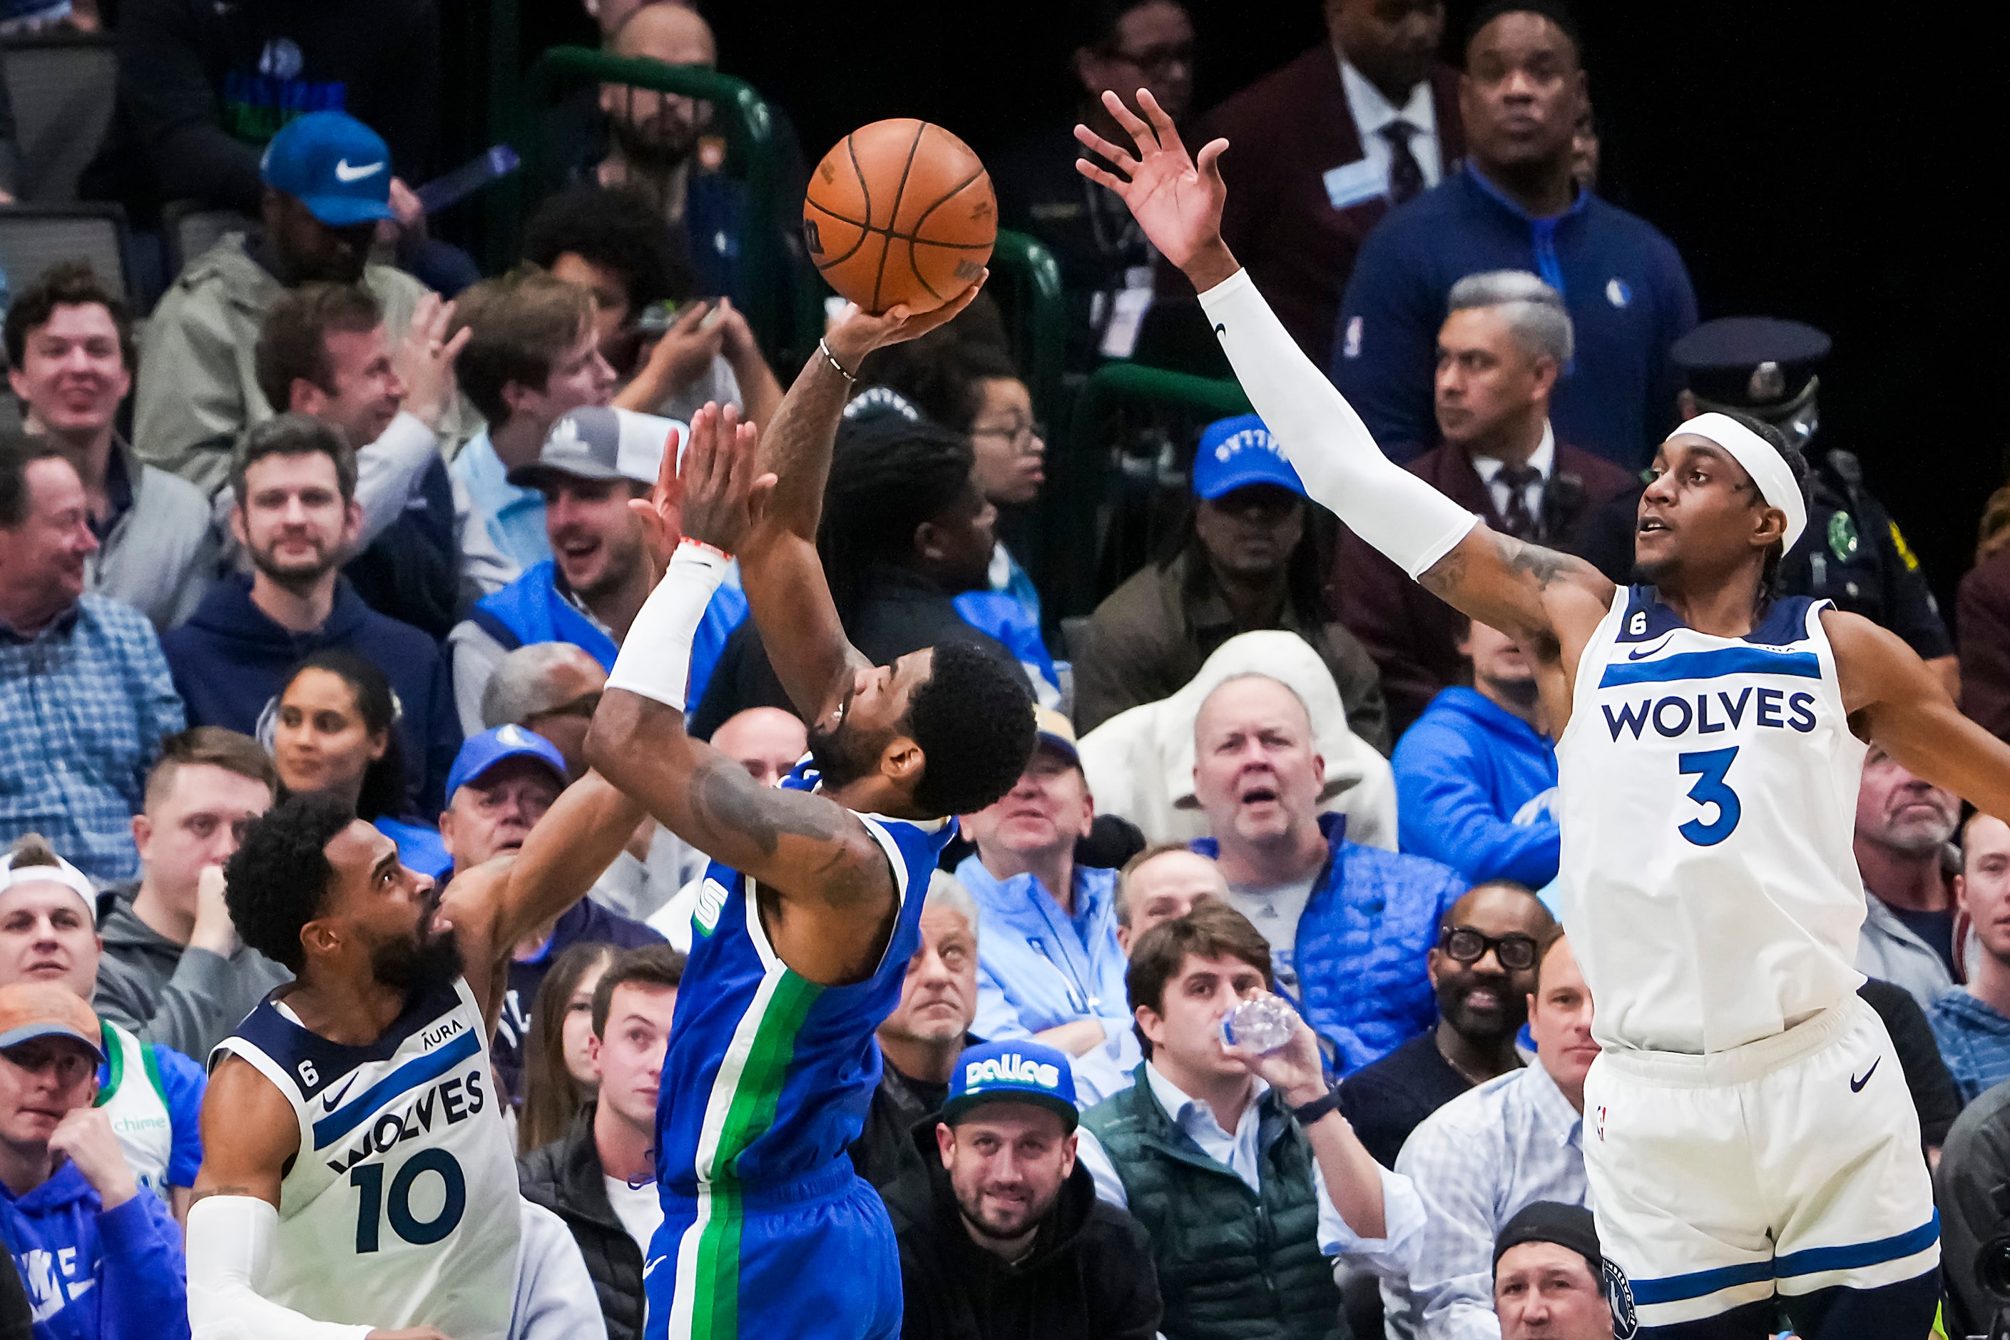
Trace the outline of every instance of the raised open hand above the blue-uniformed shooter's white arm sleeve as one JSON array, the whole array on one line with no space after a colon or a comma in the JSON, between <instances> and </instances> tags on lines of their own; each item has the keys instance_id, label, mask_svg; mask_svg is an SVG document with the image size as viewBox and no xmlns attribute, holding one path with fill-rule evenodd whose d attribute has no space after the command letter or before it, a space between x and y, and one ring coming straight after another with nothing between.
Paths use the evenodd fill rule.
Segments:
<instances>
[{"instance_id":1,"label":"raised open hand above the blue-uniformed shooter's white arm sleeve","mask_svg":"<svg viewBox=\"0 0 2010 1340\"><path fill-rule=\"evenodd\" d=\"M754 519L766 509L774 475L754 475L760 431L742 423L728 404L706 404L691 414L691 443L677 463L677 435L663 443L663 465L649 497L629 501L641 519L655 575L661 577L677 543L697 539L714 549L738 553Z\"/></svg>"}]
</instances>

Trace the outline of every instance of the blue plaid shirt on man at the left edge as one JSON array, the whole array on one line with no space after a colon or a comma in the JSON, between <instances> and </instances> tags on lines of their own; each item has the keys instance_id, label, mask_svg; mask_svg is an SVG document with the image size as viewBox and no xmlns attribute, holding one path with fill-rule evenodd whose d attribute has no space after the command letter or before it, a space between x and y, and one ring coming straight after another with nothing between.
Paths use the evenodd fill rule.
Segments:
<instances>
[{"instance_id":1,"label":"blue plaid shirt on man at the left edge","mask_svg":"<svg viewBox=\"0 0 2010 1340\"><path fill-rule=\"evenodd\" d=\"M40 833L92 879L137 875L133 815L181 728L139 610L84 596L34 634L0 620L0 841Z\"/></svg>"}]
</instances>

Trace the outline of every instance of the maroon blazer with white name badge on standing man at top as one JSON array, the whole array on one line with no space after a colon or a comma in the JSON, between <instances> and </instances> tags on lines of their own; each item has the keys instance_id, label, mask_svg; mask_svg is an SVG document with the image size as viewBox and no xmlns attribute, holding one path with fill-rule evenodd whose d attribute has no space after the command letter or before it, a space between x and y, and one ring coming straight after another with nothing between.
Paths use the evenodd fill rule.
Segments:
<instances>
[{"instance_id":1,"label":"maroon blazer with white name badge on standing man at top","mask_svg":"<svg viewBox=\"0 0 2010 1340\"><path fill-rule=\"evenodd\" d=\"M1431 105L1443 175L1451 175L1465 157L1457 70L1431 70ZM1188 143L1216 135L1228 139L1222 237L1298 348L1325 368L1355 254L1389 213L1383 195L1347 209L1327 197L1325 173L1363 157L1333 46L1321 42L1230 97L1202 117L1200 135Z\"/></svg>"}]
</instances>

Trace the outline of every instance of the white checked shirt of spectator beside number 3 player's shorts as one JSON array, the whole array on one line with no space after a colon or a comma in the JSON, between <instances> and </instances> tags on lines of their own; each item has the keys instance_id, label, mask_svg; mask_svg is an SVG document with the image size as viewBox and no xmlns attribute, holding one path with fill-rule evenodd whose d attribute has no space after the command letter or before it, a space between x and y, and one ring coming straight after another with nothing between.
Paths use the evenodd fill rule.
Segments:
<instances>
[{"instance_id":1,"label":"white checked shirt of spectator beside number 3 player's shorts","mask_svg":"<svg viewBox=\"0 0 2010 1340\"><path fill-rule=\"evenodd\" d=\"M1389 1334L1499 1340L1493 1239L1530 1201L1584 1205L1584 1119L1536 1060L1425 1117L1395 1171L1417 1183L1425 1225L1409 1288L1383 1280Z\"/></svg>"}]
</instances>

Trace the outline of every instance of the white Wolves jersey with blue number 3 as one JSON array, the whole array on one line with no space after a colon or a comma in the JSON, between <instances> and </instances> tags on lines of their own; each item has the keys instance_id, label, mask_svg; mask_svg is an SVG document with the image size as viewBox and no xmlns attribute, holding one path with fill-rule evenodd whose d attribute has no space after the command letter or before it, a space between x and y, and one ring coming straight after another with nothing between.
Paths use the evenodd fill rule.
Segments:
<instances>
[{"instance_id":1,"label":"white Wolves jersey with blue number 3","mask_svg":"<svg viewBox=\"0 0 2010 1340\"><path fill-rule=\"evenodd\" d=\"M1721 1052L1863 982L1851 851L1863 742L1829 602L1773 602L1745 638L1620 590L1556 742L1558 895L1600 1046Z\"/></svg>"}]
</instances>

